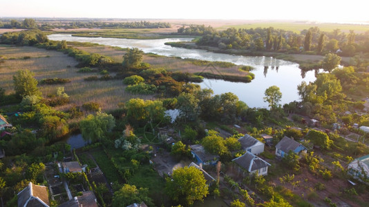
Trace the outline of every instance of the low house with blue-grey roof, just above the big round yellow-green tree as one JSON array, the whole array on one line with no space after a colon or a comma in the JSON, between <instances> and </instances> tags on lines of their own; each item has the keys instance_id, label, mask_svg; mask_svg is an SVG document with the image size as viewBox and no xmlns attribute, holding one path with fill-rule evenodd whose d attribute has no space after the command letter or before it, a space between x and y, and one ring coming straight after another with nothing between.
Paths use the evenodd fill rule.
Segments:
<instances>
[{"instance_id":1,"label":"low house with blue-grey roof, just above the big round yellow-green tree","mask_svg":"<svg viewBox=\"0 0 369 207\"><path fill-rule=\"evenodd\" d=\"M201 144L194 144L189 148L191 148L191 154L199 166L215 165L218 162L219 156L205 152L204 146Z\"/></svg>"}]
</instances>

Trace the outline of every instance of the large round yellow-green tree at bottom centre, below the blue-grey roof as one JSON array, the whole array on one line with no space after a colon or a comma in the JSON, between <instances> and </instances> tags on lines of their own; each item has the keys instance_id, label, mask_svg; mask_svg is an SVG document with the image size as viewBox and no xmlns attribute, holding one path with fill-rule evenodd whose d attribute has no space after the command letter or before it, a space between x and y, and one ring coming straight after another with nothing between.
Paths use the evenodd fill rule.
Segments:
<instances>
[{"instance_id":1,"label":"large round yellow-green tree at bottom centre, below the blue-grey roof","mask_svg":"<svg viewBox=\"0 0 369 207\"><path fill-rule=\"evenodd\" d=\"M189 206L193 201L202 201L209 194L204 175L195 167L173 170L172 177L167 177L166 190L174 201L180 201Z\"/></svg>"}]
</instances>

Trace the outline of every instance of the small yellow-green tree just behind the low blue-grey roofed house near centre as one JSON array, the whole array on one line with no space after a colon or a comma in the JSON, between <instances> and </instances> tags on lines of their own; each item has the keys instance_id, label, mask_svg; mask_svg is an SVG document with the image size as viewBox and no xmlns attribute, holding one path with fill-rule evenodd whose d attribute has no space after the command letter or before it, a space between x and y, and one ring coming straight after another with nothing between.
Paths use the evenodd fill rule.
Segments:
<instances>
[{"instance_id":1,"label":"small yellow-green tree just behind the low blue-grey roofed house near centre","mask_svg":"<svg viewBox=\"0 0 369 207\"><path fill-rule=\"evenodd\" d=\"M224 155L228 151L225 140L214 130L209 130L209 135L202 139L202 146L207 152L214 155Z\"/></svg>"}]
</instances>

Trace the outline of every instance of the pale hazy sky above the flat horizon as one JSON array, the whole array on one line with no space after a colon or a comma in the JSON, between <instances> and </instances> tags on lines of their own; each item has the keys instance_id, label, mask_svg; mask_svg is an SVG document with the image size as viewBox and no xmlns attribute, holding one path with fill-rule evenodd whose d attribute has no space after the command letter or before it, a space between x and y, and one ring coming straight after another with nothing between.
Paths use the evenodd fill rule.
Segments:
<instances>
[{"instance_id":1,"label":"pale hazy sky above the flat horizon","mask_svg":"<svg viewBox=\"0 0 369 207\"><path fill-rule=\"evenodd\" d=\"M366 0L0 0L0 17L369 21Z\"/></svg>"}]
</instances>

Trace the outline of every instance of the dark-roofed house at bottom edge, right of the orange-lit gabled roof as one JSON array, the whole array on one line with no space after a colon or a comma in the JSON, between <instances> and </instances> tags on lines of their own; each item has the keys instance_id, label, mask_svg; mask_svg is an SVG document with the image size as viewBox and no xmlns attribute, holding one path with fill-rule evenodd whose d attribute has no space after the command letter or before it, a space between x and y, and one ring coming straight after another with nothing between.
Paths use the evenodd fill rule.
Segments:
<instances>
[{"instance_id":1,"label":"dark-roofed house at bottom edge, right of the orange-lit gabled roof","mask_svg":"<svg viewBox=\"0 0 369 207\"><path fill-rule=\"evenodd\" d=\"M81 196L74 197L59 207L97 207L97 199L92 191L84 191Z\"/></svg>"}]
</instances>

